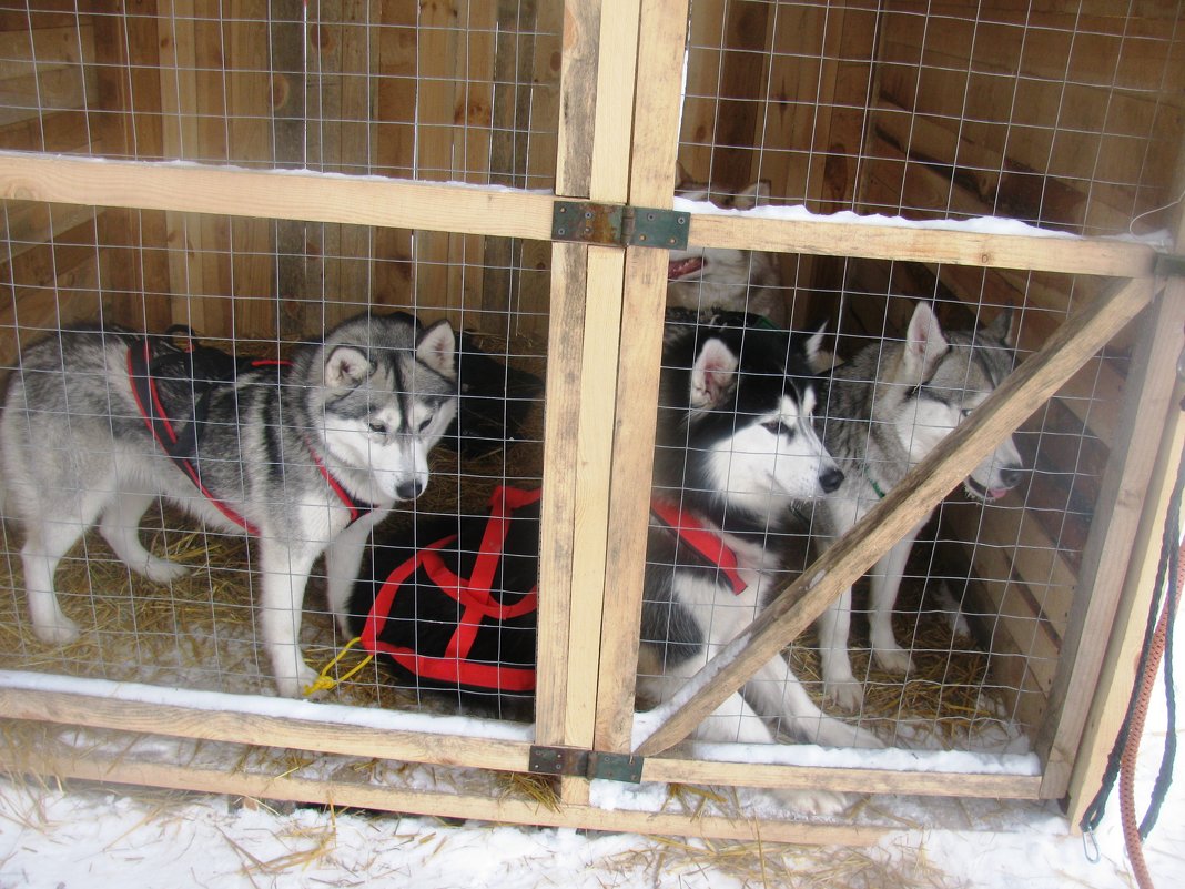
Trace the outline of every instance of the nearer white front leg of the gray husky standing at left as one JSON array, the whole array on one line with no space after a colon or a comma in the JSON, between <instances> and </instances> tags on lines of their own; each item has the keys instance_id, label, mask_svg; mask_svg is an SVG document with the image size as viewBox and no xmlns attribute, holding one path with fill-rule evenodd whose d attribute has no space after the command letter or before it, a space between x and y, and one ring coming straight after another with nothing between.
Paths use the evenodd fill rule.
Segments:
<instances>
[{"instance_id":1,"label":"nearer white front leg of the gray husky standing at left","mask_svg":"<svg viewBox=\"0 0 1185 889\"><path fill-rule=\"evenodd\" d=\"M320 555L314 546L293 546L275 538L260 539L260 635L271 659L276 689L283 697L299 698L316 679L300 650L300 625L305 587Z\"/></svg>"}]
</instances>

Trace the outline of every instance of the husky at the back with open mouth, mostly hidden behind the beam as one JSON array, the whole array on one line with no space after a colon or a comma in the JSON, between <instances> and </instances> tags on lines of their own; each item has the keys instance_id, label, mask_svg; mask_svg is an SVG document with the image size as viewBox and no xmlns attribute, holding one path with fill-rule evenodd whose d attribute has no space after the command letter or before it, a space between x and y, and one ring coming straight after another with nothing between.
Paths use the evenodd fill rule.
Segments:
<instances>
[{"instance_id":1,"label":"husky at the back with open mouth, mostly hidden behind the beam","mask_svg":"<svg viewBox=\"0 0 1185 889\"><path fill-rule=\"evenodd\" d=\"M680 186L679 197L707 200L707 187ZM719 206L751 210L769 200L769 184L755 183ZM786 301L777 256L723 247L672 250L667 262L667 306L696 312L724 309L762 315L786 326Z\"/></svg>"}]
</instances>

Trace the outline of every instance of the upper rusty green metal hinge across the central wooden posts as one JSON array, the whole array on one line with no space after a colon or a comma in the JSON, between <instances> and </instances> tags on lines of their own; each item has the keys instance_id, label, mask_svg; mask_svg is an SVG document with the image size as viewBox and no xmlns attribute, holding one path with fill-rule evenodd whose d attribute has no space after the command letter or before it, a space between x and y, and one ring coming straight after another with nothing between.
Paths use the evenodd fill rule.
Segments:
<instances>
[{"instance_id":1,"label":"upper rusty green metal hinge across the central wooden posts","mask_svg":"<svg viewBox=\"0 0 1185 889\"><path fill-rule=\"evenodd\" d=\"M628 204L557 200L551 212L551 237L581 244L683 250L690 229L691 213Z\"/></svg>"}]
</instances>

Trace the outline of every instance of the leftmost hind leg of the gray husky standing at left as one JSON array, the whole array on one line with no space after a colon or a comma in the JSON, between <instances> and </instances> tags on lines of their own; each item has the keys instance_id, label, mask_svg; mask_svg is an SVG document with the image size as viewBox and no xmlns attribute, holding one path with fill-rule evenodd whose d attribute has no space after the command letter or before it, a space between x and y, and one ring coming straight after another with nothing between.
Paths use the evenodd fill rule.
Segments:
<instances>
[{"instance_id":1,"label":"leftmost hind leg of the gray husky standing at left","mask_svg":"<svg viewBox=\"0 0 1185 889\"><path fill-rule=\"evenodd\" d=\"M20 550L20 561L25 569L25 590L33 632L43 642L68 645L78 639L78 625L63 613L53 587L53 576L62 557L95 524L110 495L110 490L83 491L70 498L69 505L59 512L52 509L52 503L41 503L38 507L40 514L31 516L24 522L25 545ZM52 500L52 494L50 499ZM58 512L62 518L46 518L51 512Z\"/></svg>"}]
</instances>

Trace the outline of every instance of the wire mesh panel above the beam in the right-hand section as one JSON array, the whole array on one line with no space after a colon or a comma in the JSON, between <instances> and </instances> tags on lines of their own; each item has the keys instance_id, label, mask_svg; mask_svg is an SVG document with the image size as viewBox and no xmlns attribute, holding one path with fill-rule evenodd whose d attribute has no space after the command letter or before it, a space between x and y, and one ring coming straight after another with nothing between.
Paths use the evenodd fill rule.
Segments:
<instances>
[{"instance_id":1,"label":"wire mesh panel above the beam in the right-hand section","mask_svg":"<svg viewBox=\"0 0 1185 889\"><path fill-rule=\"evenodd\" d=\"M1146 234L1176 170L1172 6L694 0L680 158L720 193Z\"/></svg>"}]
</instances>

